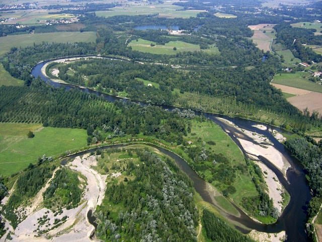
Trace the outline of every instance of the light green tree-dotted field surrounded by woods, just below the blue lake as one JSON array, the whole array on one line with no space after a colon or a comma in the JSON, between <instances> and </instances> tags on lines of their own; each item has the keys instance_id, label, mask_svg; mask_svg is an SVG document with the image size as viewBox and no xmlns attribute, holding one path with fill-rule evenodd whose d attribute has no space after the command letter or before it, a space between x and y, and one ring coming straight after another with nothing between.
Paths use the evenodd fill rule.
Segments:
<instances>
[{"instance_id":1,"label":"light green tree-dotted field surrounded by woods, just below the blue lake","mask_svg":"<svg viewBox=\"0 0 322 242\"><path fill-rule=\"evenodd\" d=\"M151 46L150 44L154 44ZM210 46L209 49L200 49L198 44L190 44L183 41L170 41L165 45L156 44L153 41L138 39L132 40L128 46L131 46L133 50L145 52L145 53L152 53L152 54L176 54L180 51L205 51L207 53L217 54L219 50L216 46ZM176 47L177 50L173 48Z\"/></svg>"}]
</instances>

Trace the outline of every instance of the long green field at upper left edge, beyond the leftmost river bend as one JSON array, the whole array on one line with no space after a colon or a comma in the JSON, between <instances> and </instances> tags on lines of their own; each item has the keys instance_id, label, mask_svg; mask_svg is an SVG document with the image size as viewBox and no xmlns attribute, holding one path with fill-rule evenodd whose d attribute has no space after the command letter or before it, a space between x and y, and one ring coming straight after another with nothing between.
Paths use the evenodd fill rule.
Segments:
<instances>
[{"instance_id":1,"label":"long green field at upper left edge, beyond the leftmost river bend","mask_svg":"<svg viewBox=\"0 0 322 242\"><path fill-rule=\"evenodd\" d=\"M45 42L95 42L95 32L59 32L46 34L20 34L8 35L0 38L0 55L8 52L12 47L27 47L34 43Z\"/></svg>"}]
</instances>

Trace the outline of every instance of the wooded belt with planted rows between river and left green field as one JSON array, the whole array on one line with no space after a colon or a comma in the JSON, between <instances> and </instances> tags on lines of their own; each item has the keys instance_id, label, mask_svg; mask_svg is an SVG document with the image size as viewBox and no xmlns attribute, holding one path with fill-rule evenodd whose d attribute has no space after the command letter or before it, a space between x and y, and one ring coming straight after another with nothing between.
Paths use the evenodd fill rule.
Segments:
<instances>
[{"instance_id":1,"label":"wooded belt with planted rows between river and left green field","mask_svg":"<svg viewBox=\"0 0 322 242\"><path fill-rule=\"evenodd\" d=\"M83 128L88 130L89 143L102 140L100 132L94 132L96 129L109 132L112 137L143 133L179 144L186 134L184 120L160 107L113 104L94 94L56 89L39 80L29 88L3 86L0 93L2 122Z\"/></svg>"}]
</instances>

